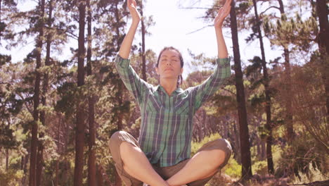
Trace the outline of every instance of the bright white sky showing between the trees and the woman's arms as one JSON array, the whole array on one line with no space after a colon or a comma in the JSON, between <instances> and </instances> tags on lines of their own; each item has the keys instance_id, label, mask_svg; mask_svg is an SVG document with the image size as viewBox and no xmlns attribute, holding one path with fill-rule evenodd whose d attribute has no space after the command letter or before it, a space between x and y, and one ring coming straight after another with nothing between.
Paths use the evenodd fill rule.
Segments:
<instances>
[{"instance_id":1,"label":"bright white sky showing between the trees and the woman's arms","mask_svg":"<svg viewBox=\"0 0 329 186\"><path fill-rule=\"evenodd\" d=\"M183 74L184 78L191 72L191 57L188 56L188 49L191 49L194 54L204 53L209 57L217 56L217 41L214 27L206 27L193 34L188 34L207 25L211 25L211 23L205 23L202 19L198 19L198 17L203 16L205 9L179 8L179 5L183 7L210 7L213 0L202 0L202 3L194 4L193 1L197 2L198 0L147 0L144 3L144 16L153 15L153 20L155 21L155 25L148 29L152 35L146 37L146 48L153 49L156 54L159 54L164 46L174 46L179 49L183 54L184 61L186 61ZM20 3L20 7L25 10L28 7L33 8L35 5L35 1L20 1ZM230 29L224 29L224 37L228 46L228 53L230 56L233 56ZM245 44L246 37L247 34L239 33L240 56L243 66L248 59L256 55L261 55L258 40L247 45ZM77 41L75 42L70 45L77 47ZM138 42L141 42L141 35L136 33L134 43L138 44ZM6 53L12 55L13 62L22 61L33 46L34 42L31 41L30 44L20 46ZM282 51L272 51L267 39L264 40L264 46L267 51L266 55L270 55L266 56L267 61L281 56ZM1 52L3 52L3 48L1 48ZM70 56L71 54L66 55ZM64 54L63 56L66 55ZM233 60L231 64L233 64Z\"/></svg>"}]
</instances>

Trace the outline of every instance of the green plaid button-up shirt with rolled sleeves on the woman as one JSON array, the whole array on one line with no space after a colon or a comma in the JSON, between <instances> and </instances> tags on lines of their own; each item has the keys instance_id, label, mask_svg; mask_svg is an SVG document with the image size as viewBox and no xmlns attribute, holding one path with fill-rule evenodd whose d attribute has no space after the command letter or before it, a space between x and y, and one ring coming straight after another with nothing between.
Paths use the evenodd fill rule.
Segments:
<instances>
[{"instance_id":1,"label":"green plaid button-up shirt with rolled sleeves on the woman","mask_svg":"<svg viewBox=\"0 0 329 186\"><path fill-rule=\"evenodd\" d=\"M155 87L138 77L129 59L117 55L115 66L141 109L138 143L150 163L173 166L190 158L193 115L230 77L229 59L218 58L214 73L201 85L177 88L170 96L161 85Z\"/></svg>"}]
</instances>

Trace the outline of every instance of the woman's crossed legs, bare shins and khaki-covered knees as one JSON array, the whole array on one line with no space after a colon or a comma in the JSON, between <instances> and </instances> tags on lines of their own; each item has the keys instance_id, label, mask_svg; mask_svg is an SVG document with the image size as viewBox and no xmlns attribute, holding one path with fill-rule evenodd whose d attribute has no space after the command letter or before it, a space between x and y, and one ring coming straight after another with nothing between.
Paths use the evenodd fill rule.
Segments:
<instances>
[{"instance_id":1,"label":"woman's crossed legs, bare shins and khaki-covered knees","mask_svg":"<svg viewBox=\"0 0 329 186\"><path fill-rule=\"evenodd\" d=\"M116 132L110 140L111 152L115 152L115 148L113 148L113 144L111 145L111 141L117 140L117 138L120 138L122 135L131 137L127 132ZM137 145L134 146L134 142L120 142L119 149L117 150L120 151L120 154L116 155L112 153L112 156L120 156L119 159L122 161L122 168L124 171L133 178L152 186L180 186L191 183L195 180L209 178L217 173L219 168L224 166L224 164L227 163L229 156L231 156L231 146L226 140L220 139L209 142L205 144L195 156L188 159L186 165L183 166L180 171L176 172L176 174L172 175L172 177L165 181L154 170L143 151L141 151ZM191 185L193 185L193 183Z\"/></svg>"}]
</instances>

